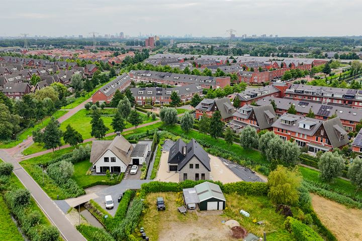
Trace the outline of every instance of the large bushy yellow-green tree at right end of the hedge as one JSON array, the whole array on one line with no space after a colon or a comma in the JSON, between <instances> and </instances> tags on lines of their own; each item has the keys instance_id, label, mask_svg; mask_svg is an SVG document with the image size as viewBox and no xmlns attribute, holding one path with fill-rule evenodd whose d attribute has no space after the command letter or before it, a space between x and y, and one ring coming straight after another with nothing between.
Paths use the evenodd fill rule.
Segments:
<instances>
[{"instance_id":1,"label":"large bushy yellow-green tree at right end of the hedge","mask_svg":"<svg viewBox=\"0 0 362 241\"><path fill-rule=\"evenodd\" d=\"M278 166L268 176L270 200L275 204L295 205L299 200L299 191L302 178L296 170L290 171L286 167Z\"/></svg>"}]
</instances>

